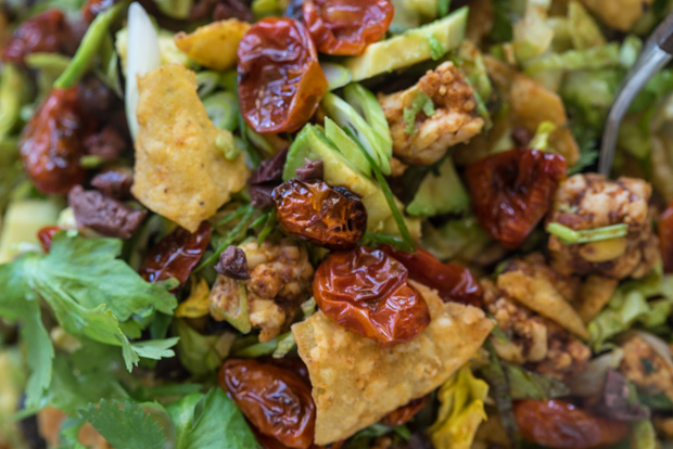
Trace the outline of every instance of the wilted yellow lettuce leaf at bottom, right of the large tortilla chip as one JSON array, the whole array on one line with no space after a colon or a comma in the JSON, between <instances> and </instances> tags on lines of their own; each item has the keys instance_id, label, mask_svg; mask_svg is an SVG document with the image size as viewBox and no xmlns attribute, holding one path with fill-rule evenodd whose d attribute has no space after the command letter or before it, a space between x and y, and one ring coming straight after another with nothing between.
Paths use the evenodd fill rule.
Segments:
<instances>
[{"instance_id":1,"label":"wilted yellow lettuce leaf at bottom, right of the large tortilla chip","mask_svg":"<svg viewBox=\"0 0 673 449\"><path fill-rule=\"evenodd\" d=\"M465 364L437 392L440 412L429 434L436 449L470 449L477 428L486 419L488 384Z\"/></svg>"}]
</instances>

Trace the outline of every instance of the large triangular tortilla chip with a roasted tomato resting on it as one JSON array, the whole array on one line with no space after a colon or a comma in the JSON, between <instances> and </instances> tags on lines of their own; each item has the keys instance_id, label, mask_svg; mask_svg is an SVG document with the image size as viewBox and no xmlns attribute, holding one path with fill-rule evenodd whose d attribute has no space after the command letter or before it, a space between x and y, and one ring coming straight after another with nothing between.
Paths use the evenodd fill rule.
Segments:
<instances>
[{"instance_id":1,"label":"large triangular tortilla chip with a roasted tomato resting on it","mask_svg":"<svg viewBox=\"0 0 673 449\"><path fill-rule=\"evenodd\" d=\"M317 445L345 439L442 385L482 346L493 322L481 309L442 303L411 282L430 307L430 325L411 342L381 349L318 311L292 326L316 402Z\"/></svg>"}]
</instances>

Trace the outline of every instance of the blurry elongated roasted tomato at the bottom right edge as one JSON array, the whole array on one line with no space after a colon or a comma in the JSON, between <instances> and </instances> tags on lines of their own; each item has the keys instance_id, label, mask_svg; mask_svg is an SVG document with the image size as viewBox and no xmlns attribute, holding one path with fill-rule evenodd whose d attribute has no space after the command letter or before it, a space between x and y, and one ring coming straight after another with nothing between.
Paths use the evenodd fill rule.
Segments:
<instances>
[{"instance_id":1,"label":"blurry elongated roasted tomato at the bottom right edge","mask_svg":"<svg viewBox=\"0 0 673 449\"><path fill-rule=\"evenodd\" d=\"M626 437L625 422L597 418L562 400L515 402L523 439L554 449L610 447Z\"/></svg>"}]
</instances>

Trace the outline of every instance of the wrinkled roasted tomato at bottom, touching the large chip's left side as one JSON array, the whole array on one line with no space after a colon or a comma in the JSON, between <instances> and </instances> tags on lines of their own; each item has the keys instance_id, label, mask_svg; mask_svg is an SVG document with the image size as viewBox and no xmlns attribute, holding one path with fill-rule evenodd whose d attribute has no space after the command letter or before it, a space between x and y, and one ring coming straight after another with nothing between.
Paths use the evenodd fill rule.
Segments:
<instances>
[{"instance_id":1,"label":"wrinkled roasted tomato at bottom, touching the large chip's left side","mask_svg":"<svg viewBox=\"0 0 673 449\"><path fill-rule=\"evenodd\" d=\"M316 406L310 386L292 371L256 360L230 359L219 385L259 433L290 448L313 444Z\"/></svg>"}]
</instances>

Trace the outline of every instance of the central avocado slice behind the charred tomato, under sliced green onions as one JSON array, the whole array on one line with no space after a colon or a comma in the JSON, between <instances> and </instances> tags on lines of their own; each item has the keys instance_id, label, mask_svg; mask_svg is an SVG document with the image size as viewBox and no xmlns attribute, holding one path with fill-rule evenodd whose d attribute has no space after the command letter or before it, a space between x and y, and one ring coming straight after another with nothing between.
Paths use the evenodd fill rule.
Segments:
<instances>
[{"instance_id":1,"label":"central avocado slice behind the charred tomato, under sliced green onions","mask_svg":"<svg viewBox=\"0 0 673 449\"><path fill-rule=\"evenodd\" d=\"M306 125L290 145L283 180L295 177L295 170L305 158L322 161L325 180L331 185L345 187L355 192L367 209L367 231L398 235L395 219L388 207L381 187L364 176L346 156L325 136L321 129ZM397 202L402 209L402 203ZM405 217L412 238L420 235L420 220Z\"/></svg>"}]
</instances>

